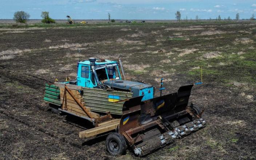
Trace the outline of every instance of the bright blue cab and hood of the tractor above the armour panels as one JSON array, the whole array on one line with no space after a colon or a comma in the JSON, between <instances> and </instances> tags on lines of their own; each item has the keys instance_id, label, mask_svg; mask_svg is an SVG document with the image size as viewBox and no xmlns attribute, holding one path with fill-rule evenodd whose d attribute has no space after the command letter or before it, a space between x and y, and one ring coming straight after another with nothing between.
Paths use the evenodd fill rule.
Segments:
<instances>
[{"instance_id":1,"label":"bright blue cab and hood of the tractor above the armour panels","mask_svg":"<svg viewBox=\"0 0 256 160\"><path fill-rule=\"evenodd\" d=\"M95 58L81 61L77 66L77 80L70 83L87 88L128 91L133 93L132 97L143 96L142 101L152 99L155 90L152 85L126 80L120 60L119 63Z\"/></svg>"}]
</instances>

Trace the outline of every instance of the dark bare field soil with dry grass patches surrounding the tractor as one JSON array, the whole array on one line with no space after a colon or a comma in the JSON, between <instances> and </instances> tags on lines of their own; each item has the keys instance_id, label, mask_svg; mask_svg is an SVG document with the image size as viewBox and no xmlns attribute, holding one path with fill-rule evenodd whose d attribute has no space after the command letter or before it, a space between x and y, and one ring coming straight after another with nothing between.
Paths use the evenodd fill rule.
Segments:
<instances>
[{"instance_id":1,"label":"dark bare field soil with dry grass patches surrounding the tractor","mask_svg":"<svg viewBox=\"0 0 256 160\"><path fill-rule=\"evenodd\" d=\"M256 23L8 31L0 30L0 159L255 159ZM204 57L212 53L218 56ZM164 77L164 93L200 81L202 67L204 83L193 87L190 101L205 108L207 127L143 158L130 150L111 156L105 136L79 139L91 125L53 114L43 102L44 84L75 79L79 57L119 54L127 74L156 87Z\"/></svg>"}]
</instances>

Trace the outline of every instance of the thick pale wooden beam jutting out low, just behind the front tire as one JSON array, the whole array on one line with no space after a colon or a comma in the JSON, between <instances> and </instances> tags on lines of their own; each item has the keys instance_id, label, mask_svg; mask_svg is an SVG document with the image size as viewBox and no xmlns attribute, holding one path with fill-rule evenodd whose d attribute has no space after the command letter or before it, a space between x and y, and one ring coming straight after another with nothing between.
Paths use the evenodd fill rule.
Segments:
<instances>
[{"instance_id":1,"label":"thick pale wooden beam jutting out low, just behind the front tire","mask_svg":"<svg viewBox=\"0 0 256 160\"><path fill-rule=\"evenodd\" d=\"M91 136L98 135L100 133L112 131L112 130L115 130L118 125L119 125L119 121L109 124L109 125L103 125L100 127L91 128L91 129L79 132L79 137L80 138L88 138Z\"/></svg>"}]
</instances>

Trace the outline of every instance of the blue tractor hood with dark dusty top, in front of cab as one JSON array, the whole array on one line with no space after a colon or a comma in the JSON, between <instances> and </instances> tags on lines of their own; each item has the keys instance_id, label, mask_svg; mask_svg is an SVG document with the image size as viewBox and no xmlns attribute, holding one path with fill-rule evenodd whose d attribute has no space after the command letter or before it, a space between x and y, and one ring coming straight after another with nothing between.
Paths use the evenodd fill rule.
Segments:
<instances>
[{"instance_id":1,"label":"blue tractor hood with dark dusty top, in front of cab","mask_svg":"<svg viewBox=\"0 0 256 160\"><path fill-rule=\"evenodd\" d=\"M153 86L140 82L133 82L127 80L109 80L104 81L104 85L108 85L113 88L118 88L121 90L126 90L133 92L132 97L143 96L143 101L153 98Z\"/></svg>"}]
</instances>

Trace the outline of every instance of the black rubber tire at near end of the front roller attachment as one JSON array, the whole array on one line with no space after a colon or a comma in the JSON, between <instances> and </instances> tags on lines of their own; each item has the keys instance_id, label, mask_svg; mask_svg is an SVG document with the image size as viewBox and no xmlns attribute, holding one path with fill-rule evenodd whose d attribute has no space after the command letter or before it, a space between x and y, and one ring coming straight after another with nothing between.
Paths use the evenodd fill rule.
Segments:
<instances>
[{"instance_id":1,"label":"black rubber tire at near end of the front roller attachment","mask_svg":"<svg viewBox=\"0 0 256 160\"><path fill-rule=\"evenodd\" d=\"M106 147L107 151L115 156L125 155L127 145L124 136L120 133L110 133L106 139Z\"/></svg>"}]
</instances>

